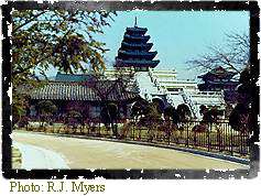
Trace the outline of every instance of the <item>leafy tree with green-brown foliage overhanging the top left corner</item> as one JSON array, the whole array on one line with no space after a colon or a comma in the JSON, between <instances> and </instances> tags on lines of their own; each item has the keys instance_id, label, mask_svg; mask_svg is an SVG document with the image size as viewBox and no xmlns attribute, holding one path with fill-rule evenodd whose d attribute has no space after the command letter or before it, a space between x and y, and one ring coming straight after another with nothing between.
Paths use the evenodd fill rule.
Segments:
<instances>
[{"instance_id":1,"label":"leafy tree with green-brown foliage overhanging the top left corner","mask_svg":"<svg viewBox=\"0 0 261 196\"><path fill-rule=\"evenodd\" d=\"M37 86L39 74L55 67L65 73L105 68L105 43L95 39L109 25L107 11L14 10L12 12L12 110L25 109L21 85Z\"/></svg>"}]
</instances>

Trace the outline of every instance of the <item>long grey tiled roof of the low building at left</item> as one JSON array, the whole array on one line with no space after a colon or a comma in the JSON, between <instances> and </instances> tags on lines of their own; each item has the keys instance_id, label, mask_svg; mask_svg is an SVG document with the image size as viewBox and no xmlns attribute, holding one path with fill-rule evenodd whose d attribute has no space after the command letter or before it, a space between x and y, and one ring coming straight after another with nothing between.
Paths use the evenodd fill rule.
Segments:
<instances>
[{"instance_id":1,"label":"long grey tiled roof of the low building at left","mask_svg":"<svg viewBox=\"0 0 261 196\"><path fill-rule=\"evenodd\" d=\"M51 100L110 100L123 101L137 98L135 92L124 90L120 84L112 85L112 81L100 81L99 87L90 87L84 83L47 83L44 86L30 91L31 99L51 99ZM98 90L96 90L98 89ZM102 91L104 90L104 91ZM101 98L102 91L104 98Z\"/></svg>"}]
</instances>

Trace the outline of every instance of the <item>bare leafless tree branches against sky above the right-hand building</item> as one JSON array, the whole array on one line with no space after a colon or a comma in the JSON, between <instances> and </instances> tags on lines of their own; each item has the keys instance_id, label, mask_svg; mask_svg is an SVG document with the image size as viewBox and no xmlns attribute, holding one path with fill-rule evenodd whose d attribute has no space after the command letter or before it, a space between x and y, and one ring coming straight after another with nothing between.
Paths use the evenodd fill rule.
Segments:
<instances>
[{"instance_id":1,"label":"bare leafless tree branches against sky above the right-hand building","mask_svg":"<svg viewBox=\"0 0 261 196\"><path fill-rule=\"evenodd\" d=\"M209 53L199 55L197 58L186 62L193 67L199 67L204 70L213 69L217 66L241 73L249 66L250 39L249 35L232 33L226 34L227 44L225 47L209 46Z\"/></svg>"}]
</instances>

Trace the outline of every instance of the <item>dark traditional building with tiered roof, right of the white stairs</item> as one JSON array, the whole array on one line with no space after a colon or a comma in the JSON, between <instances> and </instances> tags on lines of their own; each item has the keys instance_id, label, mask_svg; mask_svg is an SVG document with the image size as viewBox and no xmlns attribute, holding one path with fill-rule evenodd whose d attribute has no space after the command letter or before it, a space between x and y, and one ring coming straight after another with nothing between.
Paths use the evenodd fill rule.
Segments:
<instances>
[{"instance_id":1,"label":"dark traditional building with tiered roof, right of the white stairs","mask_svg":"<svg viewBox=\"0 0 261 196\"><path fill-rule=\"evenodd\" d=\"M233 79L236 74L235 72L228 72L221 66L218 66L198 76L198 78L202 78L204 81L198 85L198 88L202 91L224 91L226 102L236 102L236 88L239 85L239 83Z\"/></svg>"}]
</instances>

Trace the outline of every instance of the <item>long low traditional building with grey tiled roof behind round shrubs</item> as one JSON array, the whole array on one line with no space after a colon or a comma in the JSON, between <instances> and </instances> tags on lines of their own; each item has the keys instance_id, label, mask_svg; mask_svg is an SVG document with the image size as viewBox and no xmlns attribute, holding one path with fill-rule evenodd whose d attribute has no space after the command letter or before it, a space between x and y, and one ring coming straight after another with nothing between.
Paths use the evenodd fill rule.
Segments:
<instances>
[{"instance_id":1,"label":"long low traditional building with grey tiled roof behind round shrubs","mask_svg":"<svg viewBox=\"0 0 261 196\"><path fill-rule=\"evenodd\" d=\"M113 102L119 109L119 121L124 121L130 117L131 104L139 98L139 94L129 89L123 88L119 80L57 73L55 80L26 90L31 99L30 116L37 117L39 101L52 100L58 109L57 120L74 110L85 120L99 121L105 104Z\"/></svg>"}]
</instances>

